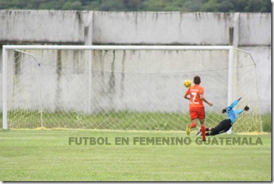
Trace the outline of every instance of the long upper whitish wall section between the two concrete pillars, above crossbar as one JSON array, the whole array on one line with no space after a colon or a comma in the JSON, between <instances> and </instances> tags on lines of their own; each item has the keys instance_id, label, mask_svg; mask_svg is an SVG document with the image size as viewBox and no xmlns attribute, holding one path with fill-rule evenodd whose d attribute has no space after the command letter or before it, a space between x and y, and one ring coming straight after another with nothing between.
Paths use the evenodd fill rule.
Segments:
<instances>
[{"instance_id":1,"label":"long upper whitish wall section between the two concrete pillars, above crossbar","mask_svg":"<svg viewBox=\"0 0 274 184\"><path fill-rule=\"evenodd\" d=\"M228 45L233 14L95 12L97 44Z\"/></svg>"}]
</instances>

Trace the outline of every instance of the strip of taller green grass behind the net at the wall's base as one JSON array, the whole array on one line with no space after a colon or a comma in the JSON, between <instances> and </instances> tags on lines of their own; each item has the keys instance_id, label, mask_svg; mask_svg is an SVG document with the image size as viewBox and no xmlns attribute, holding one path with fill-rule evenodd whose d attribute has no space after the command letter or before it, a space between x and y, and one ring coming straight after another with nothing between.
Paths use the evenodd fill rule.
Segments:
<instances>
[{"instance_id":1,"label":"strip of taller green grass behind the net at the wall's base","mask_svg":"<svg viewBox=\"0 0 274 184\"><path fill-rule=\"evenodd\" d=\"M1 113L0 113L1 116ZM214 127L226 118L222 113L207 113L206 126ZM9 128L81 128L99 130L183 131L190 121L189 113L117 111L95 114L76 112L9 111ZM43 120L43 121L41 121ZM262 115L263 131L270 132L271 116ZM0 128L2 126L0 119ZM43 122L43 125L42 123ZM252 126L251 126L252 125ZM260 119L244 113L233 126L234 132L260 131Z\"/></svg>"}]
</instances>

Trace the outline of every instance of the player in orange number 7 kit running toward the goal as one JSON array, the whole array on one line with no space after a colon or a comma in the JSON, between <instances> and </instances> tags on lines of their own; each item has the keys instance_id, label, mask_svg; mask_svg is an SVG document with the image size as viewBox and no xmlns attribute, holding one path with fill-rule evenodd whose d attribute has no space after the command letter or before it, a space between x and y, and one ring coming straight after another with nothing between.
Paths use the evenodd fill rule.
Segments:
<instances>
[{"instance_id":1,"label":"player in orange number 7 kit running toward the goal","mask_svg":"<svg viewBox=\"0 0 274 184\"><path fill-rule=\"evenodd\" d=\"M212 106L213 104L204 98L204 88L200 86L201 78L199 76L194 76L194 86L190 86L186 93L184 94L184 98L189 100L189 114L191 118L191 123L186 126L186 134L189 135L191 132L191 128L196 127L196 119L198 118L201 123L201 136L204 141L206 141L206 126L204 125L204 103Z\"/></svg>"}]
</instances>

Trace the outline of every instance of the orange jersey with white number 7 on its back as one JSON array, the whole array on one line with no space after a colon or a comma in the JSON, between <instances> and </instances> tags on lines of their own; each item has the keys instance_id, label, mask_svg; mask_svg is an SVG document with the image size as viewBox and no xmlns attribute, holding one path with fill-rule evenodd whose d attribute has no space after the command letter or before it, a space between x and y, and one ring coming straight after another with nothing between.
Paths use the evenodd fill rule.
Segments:
<instances>
[{"instance_id":1,"label":"orange jersey with white number 7 on its back","mask_svg":"<svg viewBox=\"0 0 274 184\"><path fill-rule=\"evenodd\" d=\"M187 89L186 95L190 96L189 107L204 107L204 103L200 98L201 93L204 94L204 88L197 84Z\"/></svg>"}]
</instances>

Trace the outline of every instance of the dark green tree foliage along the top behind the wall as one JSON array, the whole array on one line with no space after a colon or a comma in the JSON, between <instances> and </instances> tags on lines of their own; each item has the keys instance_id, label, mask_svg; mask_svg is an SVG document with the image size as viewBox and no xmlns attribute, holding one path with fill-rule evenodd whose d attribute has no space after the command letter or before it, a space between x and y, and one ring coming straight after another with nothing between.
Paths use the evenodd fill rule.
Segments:
<instances>
[{"instance_id":1,"label":"dark green tree foliage along the top behind the wall","mask_svg":"<svg viewBox=\"0 0 274 184\"><path fill-rule=\"evenodd\" d=\"M271 12L270 0L0 0L0 9Z\"/></svg>"}]
</instances>

